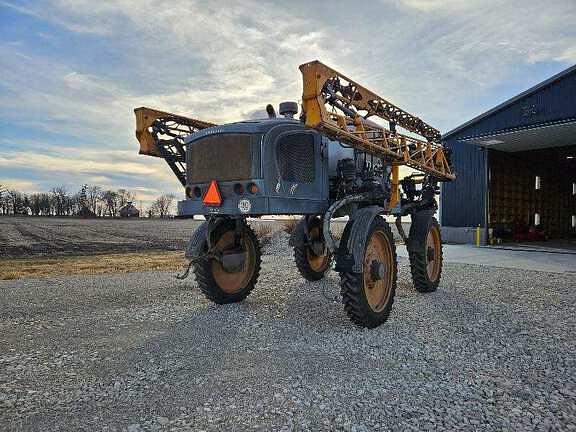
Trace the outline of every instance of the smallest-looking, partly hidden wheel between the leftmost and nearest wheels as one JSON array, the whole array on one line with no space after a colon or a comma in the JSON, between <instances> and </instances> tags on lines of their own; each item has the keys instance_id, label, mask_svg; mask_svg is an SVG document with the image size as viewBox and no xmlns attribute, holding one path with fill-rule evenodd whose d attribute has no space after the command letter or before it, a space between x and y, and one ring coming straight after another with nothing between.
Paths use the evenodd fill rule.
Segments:
<instances>
[{"instance_id":1,"label":"smallest-looking, partly hidden wheel between the leftmost and nearest wheels","mask_svg":"<svg viewBox=\"0 0 576 432\"><path fill-rule=\"evenodd\" d=\"M306 220L302 219L299 224L302 225L296 229L308 230L306 238L317 242L317 247L315 251L308 243L295 246L294 261L304 279L318 281L326 275L332 263L332 254L326 247L322 236L322 221L320 218L314 218L306 224Z\"/></svg>"}]
</instances>

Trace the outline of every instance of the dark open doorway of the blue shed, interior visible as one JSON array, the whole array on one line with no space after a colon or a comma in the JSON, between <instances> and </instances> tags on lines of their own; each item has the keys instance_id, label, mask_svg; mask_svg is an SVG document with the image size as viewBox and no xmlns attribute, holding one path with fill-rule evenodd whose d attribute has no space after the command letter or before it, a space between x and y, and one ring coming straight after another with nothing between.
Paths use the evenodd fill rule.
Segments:
<instances>
[{"instance_id":1,"label":"dark open doorway of the blue shed, interior visible","mask_svg":"<svg viewBox=\"0 0 576 432\"><path fill-rule=\"evenodd\" d=\"M576 233L576 145L514 152L491 149L488 159L493 237L517 243L561 240L576 249L571 242Z\"/></svg>"}]
</instances>

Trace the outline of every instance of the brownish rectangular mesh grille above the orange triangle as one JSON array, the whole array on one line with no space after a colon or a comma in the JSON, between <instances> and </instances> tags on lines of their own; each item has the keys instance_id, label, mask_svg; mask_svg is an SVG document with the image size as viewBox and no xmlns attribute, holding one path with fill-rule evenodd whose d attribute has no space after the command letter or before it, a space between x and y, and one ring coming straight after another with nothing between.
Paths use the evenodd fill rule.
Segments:
<instances>
[{"instance_id":1,"label":"brownish rectangular mesh grille above the orange triangle","mask_svg":"<svg viewBox=\"0 0 576 432\"><path fill-rule=\"evenodd\" d=\"M252 176L250 135L209 135L188 145L188 181L246 180Z\"/></svg>"}]
</instances>

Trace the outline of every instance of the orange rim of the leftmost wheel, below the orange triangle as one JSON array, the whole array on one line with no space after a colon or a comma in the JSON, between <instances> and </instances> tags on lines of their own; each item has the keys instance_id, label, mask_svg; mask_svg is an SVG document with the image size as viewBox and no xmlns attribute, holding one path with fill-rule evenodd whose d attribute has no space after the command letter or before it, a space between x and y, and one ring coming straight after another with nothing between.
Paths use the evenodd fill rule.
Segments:
<instances>
[{"instance_id":1,"label":"orange rim of the leftmost wheel, below the orange triangle","mask_svg":"<svg viewBox=\"0 0 576 432\"><path fill-rule=\"evenodd\" d=\"M216 242L215 249L224 252L234 247L234 231L226 231ZM228 294L234 294L246 288L256 265L256 249L249 237L244 233L242 249L247 252L246 260L242 270L228 272L222 264L215 259L212 260L212 276L220 289Z\"/></svg>"}]
</instances>

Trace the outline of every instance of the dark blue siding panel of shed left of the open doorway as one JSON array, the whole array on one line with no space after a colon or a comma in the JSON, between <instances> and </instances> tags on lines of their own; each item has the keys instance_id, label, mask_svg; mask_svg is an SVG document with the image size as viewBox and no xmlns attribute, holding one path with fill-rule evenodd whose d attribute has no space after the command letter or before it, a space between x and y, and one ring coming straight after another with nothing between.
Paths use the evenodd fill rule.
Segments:
<instances>
[{"instance_id":1,"label":"dark blue siding panel of shed left of the open doorway","mask_svg":"<svg viewBox=\"0 0 576 432\"><path fill-rule=\"evenodd\" d=\"M486 151L448 140L456 180L442 184L442 225L484 226L486 196Z\"/></svg>"}]
</instances>

